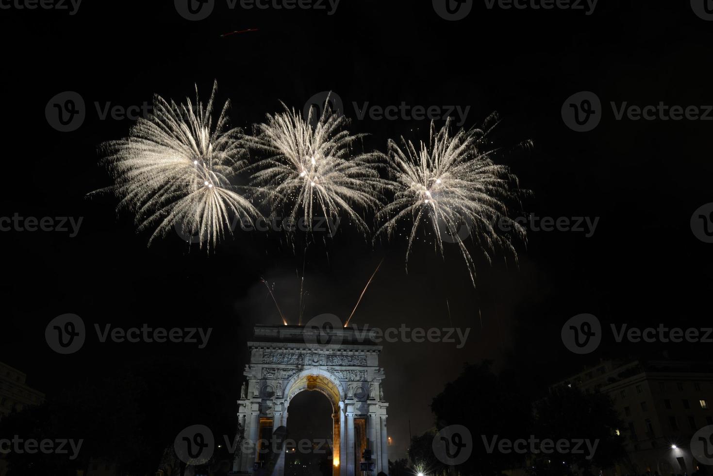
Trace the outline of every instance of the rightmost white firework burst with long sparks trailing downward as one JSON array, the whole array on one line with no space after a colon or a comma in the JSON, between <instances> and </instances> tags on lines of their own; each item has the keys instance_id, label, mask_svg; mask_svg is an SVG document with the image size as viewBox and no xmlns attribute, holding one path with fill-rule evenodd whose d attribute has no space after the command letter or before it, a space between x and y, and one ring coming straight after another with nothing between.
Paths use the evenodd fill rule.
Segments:
<instances>
[{"instance_id":1,"label":"rightmost white firework burst with long sparks trailing downward","mask_svg":"<svg viewBox=\"0 0 713 476\"><path fill-rule=\"evenodd\" d=\"M487 123L496 121L493 114ZM394 201L376 214L382 224L377 235L394 235L402 221L411 221L408 266L411 247L422 223L435 236L436 249L443 255L443 241L456 243L466 260L473 286L476 270L466 239L475 241L491 263L493 254L503 249L517 252L511 238L496 230L501 218L508 217L506 201L520 196L518 181L508 167L491 160L494 150L487 148L488 131L471 128L450 135L451 121L440 131L431 123L429 145L414 146L401 137L403 149L389 140L388 166ZM511 187L512 186L512 187ZM513 235L525 240L525 228L512 221Z\"/></svg>"}]
</instances>

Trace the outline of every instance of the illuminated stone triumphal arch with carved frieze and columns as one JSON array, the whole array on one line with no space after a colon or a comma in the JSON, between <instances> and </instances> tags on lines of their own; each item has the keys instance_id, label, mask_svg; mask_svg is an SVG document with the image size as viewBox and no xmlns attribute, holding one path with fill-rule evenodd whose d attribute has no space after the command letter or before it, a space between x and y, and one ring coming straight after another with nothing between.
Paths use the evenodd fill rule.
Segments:
<instances>
[{"instance_id":1,"label":"illuminated stone triumphal arch with carved frieze and columns","mask_svg":"<svg viewBox=\"0 0 713 476\"><path fill-rule=\"evenodd\" d=\"M333 476L389 473L380 345L341 325L257 325L247 345L250 364L237 400L242 450L235 472L282 476L286 450L279 441L286 435L289 402L300 392L317 391L332 402ZM272 447L265 447L267 440ZM366 457L371 452L370 460L364 450ZM373 469L362 471L362 462Z\"/></svg>"}]
</instances>

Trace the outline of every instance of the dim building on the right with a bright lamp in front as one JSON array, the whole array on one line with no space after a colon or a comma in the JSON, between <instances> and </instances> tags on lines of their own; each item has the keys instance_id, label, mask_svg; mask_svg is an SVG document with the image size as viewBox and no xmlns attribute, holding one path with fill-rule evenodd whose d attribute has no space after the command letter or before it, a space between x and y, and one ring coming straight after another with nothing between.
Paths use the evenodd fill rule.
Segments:
<instances>
[{"instance_id":1,"label":"dim building on the right with a bright lamp in front","mask_svg":"<svg viewBox=\"0 0 713 476\"><path fill-rule=\"evenodd\" d=\"M602 361L558 385L610 395L624 427L630 462L617 475L710 471L692 457L693 434L713 425L713 363Z\"/></svg>"}]
</instances>

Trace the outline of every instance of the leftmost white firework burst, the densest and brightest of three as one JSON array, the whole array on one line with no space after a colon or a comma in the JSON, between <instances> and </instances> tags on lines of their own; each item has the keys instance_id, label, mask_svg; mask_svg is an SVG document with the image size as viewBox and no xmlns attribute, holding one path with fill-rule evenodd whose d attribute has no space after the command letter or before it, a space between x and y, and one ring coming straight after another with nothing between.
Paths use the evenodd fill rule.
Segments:
<instances>
[{"instance_id":1,"label":"leftmost white firework burst, the densest and brightest of three","mask_svg":"<svg viewBox=\"0 0 713 476\"><path fill-rule=\"evenodd\" d=\"M215 124L212 108L217 84L203 105L168 103L154 96L153 110L139 118L128 138L104 144L113 173L118 208L136 215L139 230L154 228L149 244L176 228L183 236L214 247L230 229L230 216L257 218L260 213L235 192L230 178L245 167L246 153L228 128L227 101Z\"/></svg>"}]
</instances>

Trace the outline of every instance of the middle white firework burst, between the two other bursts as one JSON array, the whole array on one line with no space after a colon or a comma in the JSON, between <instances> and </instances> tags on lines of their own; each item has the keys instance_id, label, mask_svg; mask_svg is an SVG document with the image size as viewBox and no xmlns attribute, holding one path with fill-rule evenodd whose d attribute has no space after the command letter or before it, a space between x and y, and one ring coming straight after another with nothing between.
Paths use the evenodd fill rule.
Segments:
<instances>
[{"instance_id":1,"label":"middle white firework burst, between the two other bursts","mask_svg":"<svg viewBox=\"0 0 713 476\"><path fill-rule=\"evenodd\" d=\"M267 114L267 123L257 126L257 136L245 138L249 148L269 155L255 164L252 185L267 197L272 213L287 207L289 220L304 218L308 230L314 217L334 219L344 213L359 231L368 233L364 218L353 207L381 206L384 180L378 168L384 154L352 156L354 142L364 134L352 136L344 130L347 118L331 111L329 98L319 118L310 108L306 121L282 106L284 112Z\"/></svg>"}]
</instances>

